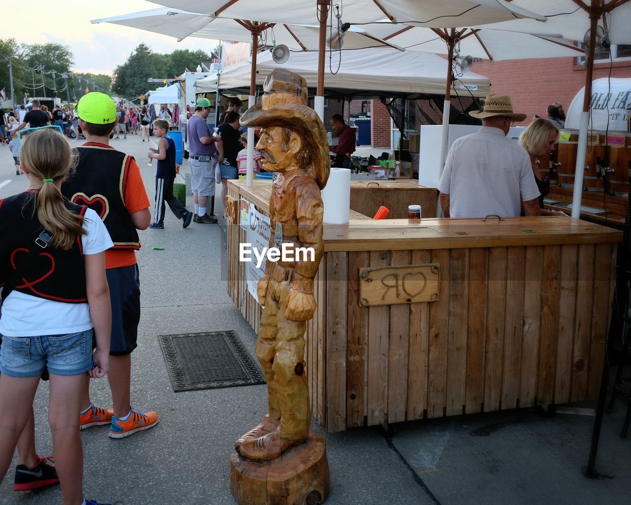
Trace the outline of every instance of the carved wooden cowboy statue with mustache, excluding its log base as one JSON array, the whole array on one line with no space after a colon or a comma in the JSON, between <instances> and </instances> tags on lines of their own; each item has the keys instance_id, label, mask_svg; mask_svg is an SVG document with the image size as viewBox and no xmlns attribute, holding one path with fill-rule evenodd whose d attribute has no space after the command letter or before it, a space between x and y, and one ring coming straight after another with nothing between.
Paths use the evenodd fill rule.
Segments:
<instances>
[{"instance_id":1,"label":"carved wooden cowboy statue with mustache, excluding its log base","mask_svg":"<svg viewBox=\"0 0 631 505\"><path fill-rule=\"evenodd\" d=\"M324 251L320 190L329 177L326 130L307 107L307 83L292 72L269 74L262 106L254 105L241 117L242 126L261 127L256 148L263 168L274 172L269 200L270 246L283 242L312 247L309 261L268 261L257 285L264 306L256 355L268 382L269 412L235 448L250 460L278 458L295 443L307 439L311 410L305 374L304 334L315 312L313 280Z\"/></svg>"}]
</instances>

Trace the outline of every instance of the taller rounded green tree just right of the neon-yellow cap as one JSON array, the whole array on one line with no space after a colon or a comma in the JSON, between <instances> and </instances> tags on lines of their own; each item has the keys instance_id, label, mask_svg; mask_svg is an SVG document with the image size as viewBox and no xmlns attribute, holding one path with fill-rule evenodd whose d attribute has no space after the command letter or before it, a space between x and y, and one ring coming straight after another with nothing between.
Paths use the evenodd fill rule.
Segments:
<instances>
[{"instance_id":1,"label":"taller rounded green tree just right of the neon-yellow cap","mask_svg":"<svg viewBox=\"0 0 631 505\"><path fill-rule=\"evenodd\" d=\"M148 79L166 78L167 61L148 45L139 44L127 61L116 67L112 92L123 98L137 98L151 88Z\"/></svg>"}]
</instances>

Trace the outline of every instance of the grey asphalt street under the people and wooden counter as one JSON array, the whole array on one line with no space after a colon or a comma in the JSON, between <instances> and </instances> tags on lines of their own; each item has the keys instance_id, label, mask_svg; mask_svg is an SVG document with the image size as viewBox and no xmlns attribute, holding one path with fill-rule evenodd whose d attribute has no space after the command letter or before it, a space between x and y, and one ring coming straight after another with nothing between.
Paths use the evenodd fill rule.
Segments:
<instances>
[{"instance_id":1,"label":"grey asphalt street under the people and wooden counter","mask_svg":"<svg viewBox=\"0 0 631 505\"><path fill-rule=\"evenodd\" d=\"M147 164L147 143L133 135L111 142L136 157L153 200L155 164ZM186 162L182 172L187 172ZM8 148L0 146L0 198L27 185L25 175L15 175ZM191 196L187 208L193 208ZM221 222L219 203L215 211ZM160 422L126 439L110 439L107 427L82 432L86 497L116 505L235 503L229 482L232 444L266 412L265 386L174 393L157 339L233 330L254 357L256 335L232 304L222 278L221 234L220 225L191 223L182 229L168 208L164 230L140 232L142 316L133 353L132 403L139 410L156 410ZM47 389L41 383L35 398L40 455L52 454ZM105 379L93 381L91 393L95 403L111 407ZM624 412L618 401L604 416L596 465L604 477L598 480L581 473L589 453L590 415L543 417L522 409L406 422L387 434L375 427L326 434L327 503L626 505L631 440L619 437ZM322 431L315 423L314 429ZM13 472L9 468L0 484L0 504L61 503L58 486L13 492Z\"/></svg>"}]
</instances>

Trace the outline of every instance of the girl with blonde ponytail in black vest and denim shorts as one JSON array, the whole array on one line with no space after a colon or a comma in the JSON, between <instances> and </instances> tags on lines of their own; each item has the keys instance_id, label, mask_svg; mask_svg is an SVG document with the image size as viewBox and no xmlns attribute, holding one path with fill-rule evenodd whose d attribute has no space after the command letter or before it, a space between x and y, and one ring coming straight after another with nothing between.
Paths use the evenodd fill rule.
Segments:
<instances>
[{"instance_id":1,"label":"girl with blonde ponytail in black vest and denim shorts","mask_svg":"<svg viewBox=\"0 0 631 505\"><path fill-rule=\"evenodd\" d=\"M33 397L47 369L55 468L45 459L32 461L35 468L18 465L14 489L60 482L64 505L96 504L83 497L76 412L86 374L107 373L111 331L105 251L113 244L95 211L61 195L73 162L68 141L54 129L28 133L21 169L29 189L0 200L0 479L18 438L25 439L20 434L32 434Z\"/></svg>"}]
</instances>

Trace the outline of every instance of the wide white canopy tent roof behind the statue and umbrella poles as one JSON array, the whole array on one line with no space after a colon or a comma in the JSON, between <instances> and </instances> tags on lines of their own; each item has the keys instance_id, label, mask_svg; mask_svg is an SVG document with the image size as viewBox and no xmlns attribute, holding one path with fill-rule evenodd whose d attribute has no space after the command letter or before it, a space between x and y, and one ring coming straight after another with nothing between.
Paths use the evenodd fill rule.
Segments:
<instances>
[{"instance_id":1,"label":"wide white canopy tent roof behind the statue and umbrella poles","mask_svg":"<svg viewBox=\"0 0 631 505\"><path fill-rule=\"evenodd\" d=\"M333 69L338 66L339 52L333 52ZM310 88L317 85L317 52L292 52L283 63L275 63L270 52L259 54L256 84L261 86L274 68L282 67L300 74ZM444 95L447 61L426 52L383 52L379 49L342 50L341 64L336 74L327 65L325 94L357 95L362 97ZM250 85L250 65L243 62L221 72L220 89L242 90ZM454 96L486 97L490 89L488 78L467 73L452 87ZM195 83L198 93L215 92L216 76ZM465 87L466 86L466 87ZM471 93L471 94L469 94Z\"/></svg>"}]
</instances>

